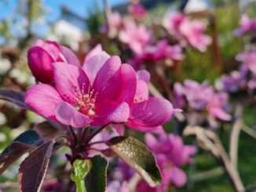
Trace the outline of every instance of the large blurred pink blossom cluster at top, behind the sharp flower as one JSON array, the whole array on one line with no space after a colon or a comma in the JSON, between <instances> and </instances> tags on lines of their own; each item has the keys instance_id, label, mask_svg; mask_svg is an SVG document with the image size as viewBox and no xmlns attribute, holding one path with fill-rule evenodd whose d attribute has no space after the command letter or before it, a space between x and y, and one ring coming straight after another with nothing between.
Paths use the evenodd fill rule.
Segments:
<instances>
[{"instance_id":1,"label":"large blurred pink blossom cluster at top, behind the sharp flower","mask_svg":"<svg viewBox=\"0 0 256 192\"><path fill-rule=\"evenodd\" d=\"M134 20L138 17L144 18L146 15L144 8L141 5L132 4L129 10L131 16L122 17L119 13L112 13L108 22L112 32L114 31L114 36L128 45L132 51L133 56L130 56L127 63L136 70L141 64L182 60L184 49L188 45L202 52L207 50L207 45L210 45L211 38L203 34L206 25L199 20L189 20L188 16L181 13L170 14L164 22L165 35L154 38L151 28ZM101 32L106 33L108 30L106 24L101 27Z\"/></svg>"}]
</instances>

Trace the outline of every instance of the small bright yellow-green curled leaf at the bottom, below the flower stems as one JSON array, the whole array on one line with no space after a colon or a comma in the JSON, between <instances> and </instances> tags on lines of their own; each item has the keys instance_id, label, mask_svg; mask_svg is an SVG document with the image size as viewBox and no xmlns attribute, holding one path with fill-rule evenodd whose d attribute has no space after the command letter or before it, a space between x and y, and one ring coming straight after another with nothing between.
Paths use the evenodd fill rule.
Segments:
<instances>
[{"instance_id":1,"label":"small bright yellow-green curled leaf at the bottom, below the flower stems","mask_svg":"<svg viewBox=\"0 0 256 192\"><path fill-rule=\"evenodd\" d=\"M86 192L85 178L90 169L90 160L77 159L73 163L71 179L76 184L77 192Z\"/></svg>"}]
</instances>

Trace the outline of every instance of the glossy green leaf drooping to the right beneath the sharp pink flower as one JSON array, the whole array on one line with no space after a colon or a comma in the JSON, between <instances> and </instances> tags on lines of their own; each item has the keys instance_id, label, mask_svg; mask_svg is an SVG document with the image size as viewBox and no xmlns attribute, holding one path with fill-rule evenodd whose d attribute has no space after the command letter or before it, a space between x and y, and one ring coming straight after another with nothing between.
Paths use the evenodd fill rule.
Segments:
<instances>
[{"instance_id":1,"label":"glossy green leaf drooping to the right beneath the sharp pink flower","mask_svg":"<svg viewBox=\"0 0 256 192\"><path fill-rule=\"evenodd\" d=\"M132 137L117 136L110 139L107 144L119 158L134 168L151 187L162 182L155 157L143 143Z\"/></svg>"}]
</instances>

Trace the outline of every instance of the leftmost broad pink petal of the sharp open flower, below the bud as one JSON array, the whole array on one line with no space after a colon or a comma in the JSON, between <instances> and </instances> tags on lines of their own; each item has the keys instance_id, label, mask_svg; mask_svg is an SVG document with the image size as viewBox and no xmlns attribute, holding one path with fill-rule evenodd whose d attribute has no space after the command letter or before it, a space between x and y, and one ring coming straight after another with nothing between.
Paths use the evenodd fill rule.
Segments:
<instances>
[{"instance_id":1,"label":"leftmost broad pink petal of the sharp open flower, below the bud","mask_svg":"<svg viewBox=\"0 0 256 192\"><path fill-rule=\"evenodd\" d=\"M38 114L56 120L54 108L62 102L59 93L50 85L38 84L27 90L25 103Z\"/></svg>"}]
</instances>

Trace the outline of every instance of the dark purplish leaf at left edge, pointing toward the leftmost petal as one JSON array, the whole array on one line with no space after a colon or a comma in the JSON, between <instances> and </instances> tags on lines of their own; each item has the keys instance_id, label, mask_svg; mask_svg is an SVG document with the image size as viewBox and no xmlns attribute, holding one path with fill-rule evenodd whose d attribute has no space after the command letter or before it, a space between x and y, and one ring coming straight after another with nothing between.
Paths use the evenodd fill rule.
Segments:
<instances>
[{"instance_id":1,"label":"dark purplish leaf at left edge, pointing toward the leftmost petal","mask_svg":"<svg viewBox=\"0 0 256 192\"><path fill-rule=\"evenodd\" d=\"M13 90L7 90L7 89L0 89L0 100L8 100L10 102L15 103L16 105L20 107L24 107L29 109L30 107L27 106L26 103L24 103L24 93L13 91Z\"/></svg>"}]
</instances>

